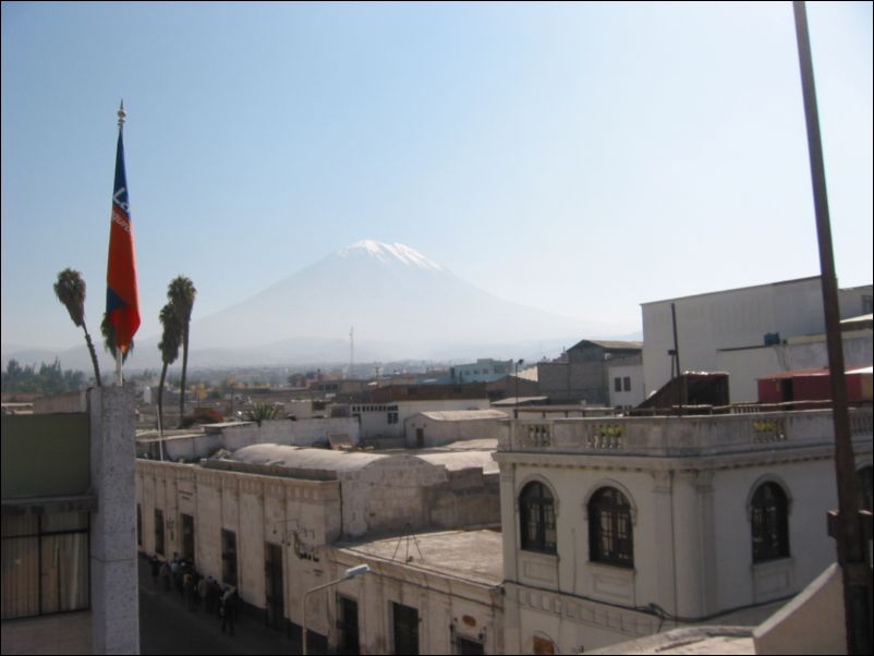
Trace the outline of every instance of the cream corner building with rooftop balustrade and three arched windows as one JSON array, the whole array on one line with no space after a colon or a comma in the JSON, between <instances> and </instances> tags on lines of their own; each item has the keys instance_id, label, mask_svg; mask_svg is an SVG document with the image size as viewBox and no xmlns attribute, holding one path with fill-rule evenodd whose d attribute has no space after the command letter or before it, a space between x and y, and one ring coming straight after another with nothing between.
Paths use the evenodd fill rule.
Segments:
<instances>
[{"instance_id":1,"label":"cream corner building with rooftop balustrade and three arched windows","mask_svg":"<svg viewBox=\"0 0 874 656\"><path fill-rule=\"evenodd\" d=\"M871 479L872 412L851 412ZM829 411L507 422L507 653L756 624L835 560Z\"/></svg>"}]
</instances>

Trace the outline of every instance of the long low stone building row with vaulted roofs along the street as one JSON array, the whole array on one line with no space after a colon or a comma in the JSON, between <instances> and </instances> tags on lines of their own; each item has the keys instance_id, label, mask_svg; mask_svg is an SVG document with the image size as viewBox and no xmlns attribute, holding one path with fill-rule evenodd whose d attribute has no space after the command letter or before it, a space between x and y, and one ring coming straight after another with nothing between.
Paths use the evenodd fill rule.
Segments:
<instances>
[{"instance_id":1,"label":"long low stone building row with vaulted roofs along the street","mask_svg":"<svg viewBox=\"0 0 874 656\"><path fill-rule=\"evenodd\" d=\"M478 579L462 580L480 566L456 568L452 549L441 552L439 545L456 545L458 559L471 555L472 544L487 543L482 550L494 556L499 534L437 542L413 536L497 524L493 450L341 452L252 445L203 465L138 460L141 550L168 559L179 554L202 574L236 587L243 603L264 609L268 624L287 631L298 646L306 592L367 562L373 573L311 598L305 623L314 651L349 647L354 627L362 653L385 653L397 639L413 640L410 631L399 636L400 621L422 627L415 641L423 651L439 653L469 641L495 653L502 644L495 603L499 561ZM415 561L388 555L404 535L417 540L426 560L418 552Z\"/></svg>"}]
</instances>

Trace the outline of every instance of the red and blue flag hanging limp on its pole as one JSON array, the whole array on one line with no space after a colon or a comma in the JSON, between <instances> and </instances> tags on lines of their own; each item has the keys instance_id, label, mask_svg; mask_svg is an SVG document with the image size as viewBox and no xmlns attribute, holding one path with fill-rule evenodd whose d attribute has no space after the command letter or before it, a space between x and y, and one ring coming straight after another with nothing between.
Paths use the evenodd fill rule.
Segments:
<instances>
[{"instance_id":1,"label":"red and blue flag hanging limp on its pole","mask_svg":"<svg viewBox=\"0 0 874 656\"><path fill-rule=\"evenodd\" d=\"M109 260L106 271L106 314L116 335L116 347L123 354L139 328L139 294L136 289L134 235L124 174L124 104L119 109L119 145L116 150L116 185L109 223Z\"/></svg>"}]
</instances>

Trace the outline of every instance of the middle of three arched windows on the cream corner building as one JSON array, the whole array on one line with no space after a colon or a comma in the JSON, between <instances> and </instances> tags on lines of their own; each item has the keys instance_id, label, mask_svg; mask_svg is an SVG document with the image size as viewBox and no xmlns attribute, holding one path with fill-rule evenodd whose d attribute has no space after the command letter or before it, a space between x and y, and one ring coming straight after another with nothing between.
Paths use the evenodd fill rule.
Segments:
<instances>
[{"instance_id":1,"label":"middle of three arched windows on the cream corner building","mask_svg":"<svg viewBox=\"0 0 874 656\"><path fill-rule=\"evenodd\" d=\"M588 559L634 567L631 505L615 487L602 487L588 501Z\"/></svg>"}]
</instances>

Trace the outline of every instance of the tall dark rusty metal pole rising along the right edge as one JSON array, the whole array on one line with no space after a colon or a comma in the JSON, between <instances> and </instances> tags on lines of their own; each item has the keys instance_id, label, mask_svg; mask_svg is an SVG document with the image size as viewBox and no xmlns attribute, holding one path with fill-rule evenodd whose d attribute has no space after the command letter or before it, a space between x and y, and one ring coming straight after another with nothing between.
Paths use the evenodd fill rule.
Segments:
<instances>
[{"instance_id":1,"label":"tall dark rusty metal pole rising along the right edge","mask_svg":"<svg viewBox=\"0 0 874 656\"><path fill-rule=\"evenodd\" d=\"M869 586L871 570L865 559L866 545L859 515L859 495L855 482L855 463L850 439L850 417L847 409L843 344L840 333L838 283L835 275L835 255L831 247L831 228L828 217L828 195L825 183L825 165L820 135L820 117L816 107L816 87L813 80L808 16L804 2L792 3L798 38L798 58L801 65L801 86L804 95L804 116L808 126L813 202L816 211L816 234L820 242L823 307L825 312L828 368L831 382L833 418L835 425L835 472L838 484L838 521L833 536L837 538L838 563L843 578L843 607L847 622L847 652L871 654L871 610Z\"/></svg>"}]
</instances>

